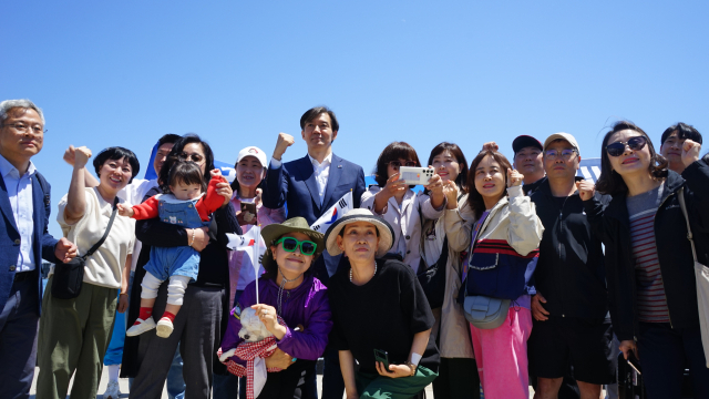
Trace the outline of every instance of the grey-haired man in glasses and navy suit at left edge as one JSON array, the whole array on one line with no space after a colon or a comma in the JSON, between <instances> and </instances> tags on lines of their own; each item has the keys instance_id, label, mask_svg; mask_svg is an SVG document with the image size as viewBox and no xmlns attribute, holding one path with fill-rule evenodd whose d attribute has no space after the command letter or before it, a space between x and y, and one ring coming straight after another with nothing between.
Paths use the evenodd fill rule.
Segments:
<instances>
[{"instance_id":1,"label":"grey-haired man in glasses and navy suit at left edge","mask_svg":"<svg viewBox=\"0 0 709 399\"><path fill-rule=\"evenodd\" d=\"M30 158L44 116L29 100L0 102L0 393L29 398L42 306L42 258L69 262L76 246L48 232L50 186Z\"/></svg>"}]
</instances>

